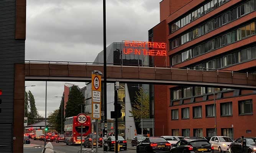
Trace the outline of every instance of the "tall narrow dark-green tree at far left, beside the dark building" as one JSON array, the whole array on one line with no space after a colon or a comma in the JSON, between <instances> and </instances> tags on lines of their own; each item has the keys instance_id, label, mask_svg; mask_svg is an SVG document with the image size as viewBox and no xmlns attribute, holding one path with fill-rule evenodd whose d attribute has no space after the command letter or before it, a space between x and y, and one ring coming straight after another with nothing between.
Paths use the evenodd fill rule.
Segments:
<instances>
[{"instance_id":1,"label":"tall narrow dark-green tree at far left, beside the dark building","mask_svg":"<svg viewBox=\"0 0 256 153\"><path fill-rule=\"evenodd\" d=\"M30 101L30 111L28 112L28 125L34 124L36 122L36 118L38 118L38 111L36 109L36 104L34 101L34 95L31 91L28 91L28 100Z\"/></svg>"}]
</instances>

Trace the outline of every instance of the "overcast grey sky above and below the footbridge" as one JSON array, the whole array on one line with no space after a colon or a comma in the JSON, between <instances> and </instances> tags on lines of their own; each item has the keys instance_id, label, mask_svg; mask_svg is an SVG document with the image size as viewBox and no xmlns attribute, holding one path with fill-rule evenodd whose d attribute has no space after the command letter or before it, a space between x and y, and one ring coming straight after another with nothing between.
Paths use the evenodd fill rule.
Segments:
<instances>
[{"instance_id":1,"label":"overcast grey sky above and below the footbridge","mask_svg":"<svg viewBox=\"0 0 256 153\"><path fill-rule=\"evenodd\" d=\"M106 0L107 46L148 41L161 0ZM103 50L102 0L27 0L26 60L93 62ZM47 114L59 108L65 82L48 82ZM70 83L70 82L69 82ZM83 82L71 82L84 87ZM44 116L45 82L26 82Z\"/></svg>"}]
</instances>

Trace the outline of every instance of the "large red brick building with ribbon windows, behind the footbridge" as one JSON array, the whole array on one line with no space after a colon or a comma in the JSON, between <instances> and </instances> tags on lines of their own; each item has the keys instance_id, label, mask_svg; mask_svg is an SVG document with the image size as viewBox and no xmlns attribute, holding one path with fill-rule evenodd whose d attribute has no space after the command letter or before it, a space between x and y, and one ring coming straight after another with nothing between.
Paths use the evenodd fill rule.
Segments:
<instances>
[{"instance_id":1,"label":"large red brick building with ribbon windows, behind the footbridge","mask_svg":"<svg viewBox=\"0 0 256 153\"><path fill-rule=\"evenodd\" d=\"M167 43L172 68L256 72L255 10L255 0L162 0L149 41ZM256 136L255 101L250 90L154 85L155 134L211 137L216 114L217 135Z\"/></svg>"}]
</instances>

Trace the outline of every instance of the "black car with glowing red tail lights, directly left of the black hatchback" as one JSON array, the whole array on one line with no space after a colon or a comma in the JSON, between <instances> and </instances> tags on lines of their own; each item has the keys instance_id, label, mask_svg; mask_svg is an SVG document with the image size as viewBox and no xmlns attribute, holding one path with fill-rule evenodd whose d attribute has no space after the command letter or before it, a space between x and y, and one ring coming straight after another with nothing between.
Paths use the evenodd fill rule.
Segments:
<instances>
[{"instance_id":1,"label":"black car with glowing red tail lights, directly left of the black hatchback","mask_svg":"<svg viewBox=\"0 0 256 153\"><path fill-rule=\"evenodd\" d=\"M137 153L169 153L171 143L167 142L162 137L146 137L137 145Z\"/></svg>"}]
</instances>

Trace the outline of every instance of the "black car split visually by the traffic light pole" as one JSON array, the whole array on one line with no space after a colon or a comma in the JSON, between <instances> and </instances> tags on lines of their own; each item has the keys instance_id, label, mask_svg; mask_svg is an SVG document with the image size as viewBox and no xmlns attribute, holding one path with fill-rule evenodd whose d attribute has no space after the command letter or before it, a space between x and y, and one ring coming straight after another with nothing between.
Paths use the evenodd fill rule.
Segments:
<instances>
[{"instance_id":1,"label":"black car split visually by the traffic light pole","mask_svg":"<svg viewBox=\"0 0 256 153\"><path fill-rule=\"evenodd\" d=\"M118 136L118 144L120 150L127 150L127 142L123 137ZM108 148L108 151L114 150L115 148L115 136L108 137L107 140L104 140L104 146Z\"/></svg>"}]
</instances>

